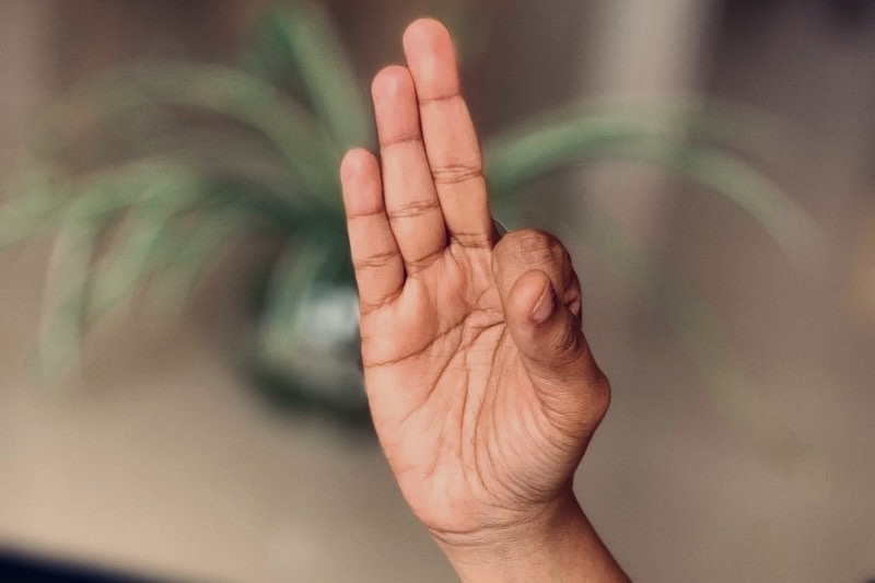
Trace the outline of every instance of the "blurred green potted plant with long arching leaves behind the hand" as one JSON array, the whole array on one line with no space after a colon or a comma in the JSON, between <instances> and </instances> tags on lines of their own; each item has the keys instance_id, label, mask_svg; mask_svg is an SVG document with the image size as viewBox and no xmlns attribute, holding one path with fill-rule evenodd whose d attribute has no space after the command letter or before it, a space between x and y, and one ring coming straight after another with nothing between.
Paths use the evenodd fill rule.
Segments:
<instances>
[{"instance_id":1,"label":"blurred green potted plant with long arching leaves behind the hand","mask_svg":"<svg viewBox=\"0 0 875 583\"><path fill-rule=\"evenodd\" d=\"M257 376L277 396L363 409L337 167L348 148L374 143L369 102L316 3L269 9L244 57L240 68L127 68L43 117L0 209L0 245L57 235L38 351L47 374L138 290L158 282L182 301L223 248L257 233L282 243L262 291ZM732 153L738 128L760 126L758 116L695 102L550 112L483 144L493 208L508 220L539 176L628 159L726 197L797 254L816 226ZM610 241L596 237L608 260L625 265L628 249ZM715 337L711 325L690 345Z\"/></svg>"}]
</instances>

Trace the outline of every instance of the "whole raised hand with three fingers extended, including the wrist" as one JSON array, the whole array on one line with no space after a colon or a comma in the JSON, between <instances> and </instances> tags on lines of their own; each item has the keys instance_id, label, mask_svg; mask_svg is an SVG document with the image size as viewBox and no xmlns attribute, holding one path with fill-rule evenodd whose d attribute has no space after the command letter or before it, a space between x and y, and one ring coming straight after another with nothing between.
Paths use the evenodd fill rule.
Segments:
<instances>
[{"instance_id":1,"label":"whole raised hand with three fingers extended, including the wrist","mask_svg":"<svg viewBox=\"0 0 875 583\"><path fill-rule=\"evenodd\" d=\"M464 580L623 581L571 489L610 400L571 259L538 231L499 238L443 25L404 47L372 86L382 164L341 165L386 457Z\"/></svg>"}]
</instances>

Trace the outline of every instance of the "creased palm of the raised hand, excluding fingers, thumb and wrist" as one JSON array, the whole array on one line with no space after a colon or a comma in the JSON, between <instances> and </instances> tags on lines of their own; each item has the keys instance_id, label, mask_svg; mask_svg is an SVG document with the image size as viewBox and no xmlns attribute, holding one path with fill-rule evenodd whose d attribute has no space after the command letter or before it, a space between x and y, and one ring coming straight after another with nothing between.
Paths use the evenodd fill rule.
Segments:
<instances>
[{"instance_id":1,"label":"creased palm of the raised hand, excluding fingers, thumb and wrist","mask_svg":"<svg viewBox=\"0 0 875 583\"><path fill-rule=\"evenodd\" d=\"M561 471L544 463L555 438L508 333L490 255L450 247L362 319L369 386L400 389L372 393L374 421L401 490L435 532L478 527L481 506L540 502Z\"/></svg>"}]
</instances>

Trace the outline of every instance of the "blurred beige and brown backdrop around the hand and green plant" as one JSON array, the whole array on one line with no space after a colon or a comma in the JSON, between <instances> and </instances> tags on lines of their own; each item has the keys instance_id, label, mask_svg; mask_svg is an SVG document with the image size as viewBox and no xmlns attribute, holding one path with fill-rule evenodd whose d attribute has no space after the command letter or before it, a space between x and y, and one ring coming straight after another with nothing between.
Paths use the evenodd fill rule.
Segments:
<instances>
[{"instance_id":1,"label":"blurred beige and brown backdrop around the hand and green plant","mask_svg":"<svg viewBox=\"0 0 875 583\"><path fill-rule=\"evenodd\" d=\"M11 185L3 201L16 199L34 136L44 150L62 141L55 126L46 133L43 124L57 116L59 100L98 75L133 62L200 62L284 88L269 58L253 60L259 23L275 4L0 0L0 175ZM571 248L585 290L587 336L614 386L576 489L637 580L875 578L875 2L318 5L323 20L315 22L332 23L331 50L347 55L360 90L378 67L400 58L407 22L444 19L458 37L466 91L487 140L581 100L639 109L662 104L660 110L732 104L723 106L728 116L697 105L693 124L669 116L680 129L669 132L668 148L710 121L728 124L728 133L718 135L732 136L724 152L737 166L712 165L712 174L744 194L745 168L754 167L789 195L788 209L813 222L778 221L769 231L756 212L681 179L682 172L602 156L545 172L509 199L511 226L550 229ZM307 73L306 62L299 66L304 82L287 83L290 94L305 93L307 80L330 82ZM162 79L188 95L185 82L199 79L195 72L182 74L177 89ZM225 77L210 79L225 79L232 90L249 79L235 84ZM247 101L260 85L247 86L250 93L225 110L241 106L245 115L237 117L247 123L248 106L265 112L270 133L279 117ZM112 93L117 89L100 91L112 104L124 98L124 91ZM206 94L212 95L209 86ZM103 102L88 95L63 106L73 112L66 118L84 124L100 115ZM330 112L330 103L310 98L317 113ZM138 119L161 133L163 124L189 128L199 115ZM128 129L133 121L116 124ZM117 133L110 124L73 138L63 147L72 161L65 176L86 175L95 158L117 164ZM250 133L234 143L211 135L200 147L272 176L272 154L256 147L236 153ZM347 138L355 136L350 130ZM95 153L94 144L103 150ZM509 158L495 151L494 167L508 166ZM145 167L147 186L167 176L162 167ZM73 180L52 184L65 179ZM121 190L110 184L102 196ZM756 190L747 195L759 196ZM330 230L331 221L316 224ZM275 333L265 333L256 315L272 313L270 304L253 310L253 289L272 289L265 272L288 259L270 237L257 236L257 225L254 232L210 252L213 267L183 310L164 310L137 292L129 302L135 308L107 310L89 327L78 363L66 363L60 378L48 382L34 366L40 336L51 343L70 333L52 331L43 317L51 312L50 290L78 281L91 259L58 269L51 236L0 249L0 549L173 580L453 580L400 499L354 386L335 396L341 404L335 407L278 398L277 390L293 393L288 387L257 388L277 383L247 364L253 342L267 342L268 353L272 346L293 353L307 348L288 338L271 343ZM785 236L775 241L775 232ZM315 233L306 241L325 241L330 250L335 238ZM115 245L126 248L112 240L103 246ZM301 256L293 259L303 265ZM316 295L325 298L324 290ZM272 298L282 304L289 295ZM339 306L317 302L316 313L335 323L342 341L354 314L339 318L346 304L338 298ZM282 337L287 320L276 322ZM317 360L319 366L354 365L348 348L338 349L341 360ZM317 385L311 382L317 374L304 371L301 384Z\"/></svg>"}]
</instances>

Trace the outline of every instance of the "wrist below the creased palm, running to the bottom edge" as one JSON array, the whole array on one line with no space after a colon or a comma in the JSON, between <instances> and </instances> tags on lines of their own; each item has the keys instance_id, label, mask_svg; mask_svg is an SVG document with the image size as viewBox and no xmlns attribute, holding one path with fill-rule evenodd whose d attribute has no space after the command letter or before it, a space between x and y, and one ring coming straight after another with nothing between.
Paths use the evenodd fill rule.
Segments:
<instances>
[{"instance_id":1,"label":"wrist below the creased palm, running to the bottom edge","mask_svg":"<svg viewBox=\"0 0 875 583\"><path fill-rule=\"evenodd\" d=\"M466 583L628 581L570 490L518 523L432 536Z\"/></svg>"}]
</instances>

